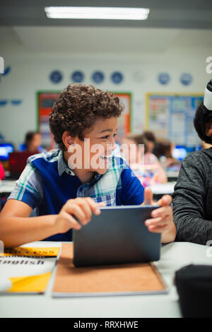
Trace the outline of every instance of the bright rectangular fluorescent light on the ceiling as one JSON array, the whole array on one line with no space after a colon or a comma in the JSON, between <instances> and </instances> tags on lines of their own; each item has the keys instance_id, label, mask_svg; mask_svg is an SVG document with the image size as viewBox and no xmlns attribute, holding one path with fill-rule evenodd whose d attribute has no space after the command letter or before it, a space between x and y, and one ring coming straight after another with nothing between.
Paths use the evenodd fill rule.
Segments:
<instances>
[{"instance_id":1,"label":"bright rectangular fluorescent light on the ceiling","mask_svg":"<svg viewBox=\"0 0 212 332\"><path fill-rule=\"evenodd\" d=\"M47 18L91 20L146 20L149 8L45 7Z\"/></svg>"}]
</instances>

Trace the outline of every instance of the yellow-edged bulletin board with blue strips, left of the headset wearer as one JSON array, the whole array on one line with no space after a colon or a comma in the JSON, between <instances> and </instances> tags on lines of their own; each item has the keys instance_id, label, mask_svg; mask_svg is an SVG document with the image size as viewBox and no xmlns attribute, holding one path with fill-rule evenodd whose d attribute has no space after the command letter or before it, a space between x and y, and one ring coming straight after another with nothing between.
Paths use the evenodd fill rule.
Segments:
<instances>
[{"instance_id":1,"label":"yellow-edged bulletin board with blue strips, left of the headset wearer","mask_svg":"<svg viewBox=\"0 0 212 332\"><path fill-rule=\"evenodd\" d=\"M199 146L200 139L193 121L196 108L203 99L204 93L147 93L146 130L179 146Z\"/></svg>"}]
</instances>

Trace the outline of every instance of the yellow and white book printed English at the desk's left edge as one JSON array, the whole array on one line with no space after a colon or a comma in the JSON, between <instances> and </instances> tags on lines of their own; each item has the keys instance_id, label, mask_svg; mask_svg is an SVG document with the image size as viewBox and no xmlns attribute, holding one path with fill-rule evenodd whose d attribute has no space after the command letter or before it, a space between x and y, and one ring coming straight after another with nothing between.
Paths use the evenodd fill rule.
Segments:
<instances>
[{"instance_id":1,"label":"yellow and white book printed English at the desk's left edge","mask_svg":"<svg viewBox=\"0 0 212 332\"><path fill-rule=\"evenodd\" d=\"M0 254L0 292L43 293L60 247L23 246Z\"/></svg>"}]
</instances>

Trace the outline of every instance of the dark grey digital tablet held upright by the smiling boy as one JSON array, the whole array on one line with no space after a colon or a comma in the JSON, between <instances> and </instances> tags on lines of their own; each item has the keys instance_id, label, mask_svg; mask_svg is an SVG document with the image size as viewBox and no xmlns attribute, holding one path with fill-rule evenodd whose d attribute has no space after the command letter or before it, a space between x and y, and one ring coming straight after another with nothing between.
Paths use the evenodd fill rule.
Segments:
<instances>
[{"instance_id":1,"label":"dark grey digital tablet held upright by the smiling boy","mask_svg":"<svg viewBox=\"0 0 212 332\"><path fill-rule=\"evenodd\" d=\"M144 224L159 206L108 206L73 230L73 264L98 266L158 261L161 235Z\"/></svg>"}]
</instances>

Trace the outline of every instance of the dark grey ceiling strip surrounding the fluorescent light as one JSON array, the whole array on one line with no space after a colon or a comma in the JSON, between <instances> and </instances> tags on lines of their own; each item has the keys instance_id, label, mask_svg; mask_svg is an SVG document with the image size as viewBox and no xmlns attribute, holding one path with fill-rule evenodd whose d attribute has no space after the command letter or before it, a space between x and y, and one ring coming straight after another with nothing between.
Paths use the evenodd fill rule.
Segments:
<instances>
[{"instance_id":1,"label":"dark grey ceiling strip surrounding the fluorescent light","mask_svg":"<svg viewBox=\"0 0 212 332\"><path fill-rule=\"evenodd\" d=\"M107 5L106 5L107 4ZM114 6L150 8L144 21L55 20L45 16L45 6ZM211 0L1 0L0 25L113 26L143 28L212 29Z\"/></svg>"}]
</instances>

